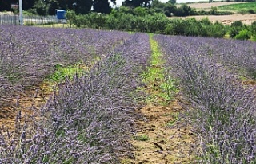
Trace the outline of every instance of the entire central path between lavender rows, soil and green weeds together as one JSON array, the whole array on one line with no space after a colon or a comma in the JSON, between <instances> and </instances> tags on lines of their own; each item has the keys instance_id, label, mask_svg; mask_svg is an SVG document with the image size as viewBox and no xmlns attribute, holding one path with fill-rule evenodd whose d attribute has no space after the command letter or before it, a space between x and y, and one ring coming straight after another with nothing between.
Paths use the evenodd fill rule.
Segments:
<instances>
[{"instance_id":1,"label":"entire central path between lavender rows, soil and green weeds together","mask_svg":"<svg viewBox=\"0 0 256 164\"><path fill-rule=\"evenodd\" d=\"M193 134L182 126L175 94L177 81L166 74L162 53L158 42L150 34L150 65L142 73L147 94L146 106L137 112L144 119L135 122L136 135L130 141L134 146L134 159L123 159L122 163L191 163L194 156L190 145L194 143Z\"/></svg>"}]
</instances>

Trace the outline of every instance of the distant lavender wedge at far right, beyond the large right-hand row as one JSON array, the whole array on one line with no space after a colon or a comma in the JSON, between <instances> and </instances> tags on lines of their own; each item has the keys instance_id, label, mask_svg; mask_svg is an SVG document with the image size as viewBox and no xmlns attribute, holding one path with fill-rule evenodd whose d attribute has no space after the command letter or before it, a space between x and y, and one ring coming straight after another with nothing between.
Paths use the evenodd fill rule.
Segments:
<instances>
[{"instance_id":1,"label":"distant lavender wedge at far right, beyond the large right-hand row","mask_svg":"<svg viewBox=\"0 0 256 164\"><path fill-rule=\"evenodd\" d=\"M254 42L210 37L187 37L186 42L191 46L200 45L200 51L225 64L239 76L256 79L256 44Z\"/></svg>"}]
</instances>

